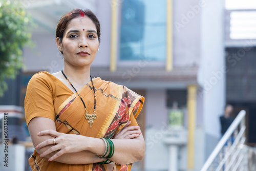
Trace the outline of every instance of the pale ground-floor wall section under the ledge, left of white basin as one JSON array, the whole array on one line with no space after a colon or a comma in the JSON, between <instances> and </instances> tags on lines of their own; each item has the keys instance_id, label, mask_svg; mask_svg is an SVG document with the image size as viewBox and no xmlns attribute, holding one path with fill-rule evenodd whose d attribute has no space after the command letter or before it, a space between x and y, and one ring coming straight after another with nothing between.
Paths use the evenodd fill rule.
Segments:
<instances>
[{"instance_id":1,"label":"pale ground-floor wall section under the ledge, left of white basin","mask_svg":"<svg viewBox=\"0 0 256 171\"><path fill-rule=\"evenodd\" d=\"M162 141L168 129L166 90L146 90L145 169L162 170L168 167L168 151ZM154 161L154 162L153 162Z\"/></svg>"}]
</instances>

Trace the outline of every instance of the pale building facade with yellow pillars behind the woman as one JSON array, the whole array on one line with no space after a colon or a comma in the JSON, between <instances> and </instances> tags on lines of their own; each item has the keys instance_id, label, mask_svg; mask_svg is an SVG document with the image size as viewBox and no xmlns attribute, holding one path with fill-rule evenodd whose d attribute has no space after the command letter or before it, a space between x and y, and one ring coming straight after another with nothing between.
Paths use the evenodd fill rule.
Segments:
<instances>
[{"instance_id":1,"label":"pale building facade with yellow pillars behind the woman","mask_svg":"<svg viewBox=\"0 0 256 171\"><path fill-rule=\"evenodd\" d=\"M91 75L145 97L137 121L146 155L133 169L167 170L165 139L184 133L184 142L176 144L178 168L200 170L220 139L219 116L226 103L223 1L28 2L25 8L38 27L32 34L35 48L24 49L22 97L34 73L63 68L55 43L58 19L73 8L89 8L101 24Z\"/></svg>"}]
</instances>

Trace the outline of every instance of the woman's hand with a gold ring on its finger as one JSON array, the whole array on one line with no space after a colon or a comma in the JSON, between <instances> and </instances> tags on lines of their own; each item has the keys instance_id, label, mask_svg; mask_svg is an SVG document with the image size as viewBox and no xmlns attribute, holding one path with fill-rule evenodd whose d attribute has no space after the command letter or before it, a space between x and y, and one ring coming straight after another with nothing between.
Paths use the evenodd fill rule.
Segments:
<instances>
[{"instance_id":1,"label":"woman's hand with a gold ring on its finger","mask_svg":"<svg viewBox=\"0 0 256 171\"><path fill-rule=\"evenodd\" d=\"M40 157L45 157L50 153L57 152L51 158L49 158L48 161L52 161L66 153L81 152L85 150L86 147L84 145L87 144L86 140L80 140L81 138L86 139L87 137L85 136L79 136L75 134L64 134L64 133L59 133L53 130L41 131L37 135L38 136L50 135L52 137L55 137L53 139L48 139L44 142L41 142L35 147L36 149L40 149L47 145L55 144L54 146L48 148L47 151L40 154Z\"/></svg>"}]
</instances>

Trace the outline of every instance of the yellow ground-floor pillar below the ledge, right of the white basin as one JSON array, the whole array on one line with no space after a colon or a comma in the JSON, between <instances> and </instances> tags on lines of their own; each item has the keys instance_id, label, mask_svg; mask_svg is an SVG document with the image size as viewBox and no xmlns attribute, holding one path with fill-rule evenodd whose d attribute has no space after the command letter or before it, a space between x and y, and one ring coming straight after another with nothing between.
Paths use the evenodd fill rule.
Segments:
<instances>
[{"instance_id":1,"label":"yellow ground-floor pillar below the ledge, right of the white basin","mask_svg":"<svg viewBox=\"0 0 256 171\"><path fill-rule=\"evenodd\" d=\"M197 86L189 85L187 87L187 95L188 95L188 98L187 98L187 111L188 111L187 168L194 169Z\"/></svg>"}]
</instances>

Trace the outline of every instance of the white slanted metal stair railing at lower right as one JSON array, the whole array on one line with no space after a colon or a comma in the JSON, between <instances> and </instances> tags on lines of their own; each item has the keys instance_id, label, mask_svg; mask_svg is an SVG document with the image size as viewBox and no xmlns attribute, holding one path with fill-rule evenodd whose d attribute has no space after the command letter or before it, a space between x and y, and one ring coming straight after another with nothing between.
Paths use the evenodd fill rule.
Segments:
<instances>
[{"instance_id":1,"label":"white slanted metal stair railing at lower right","mask_svg":"<svg viewBox=\"0 0 256 171\"><path fill-rule=\"evenodd\" d=\"M243 110L234 119L201 171L247 170L245 114Z\"/></svg>"}]
</instances>

